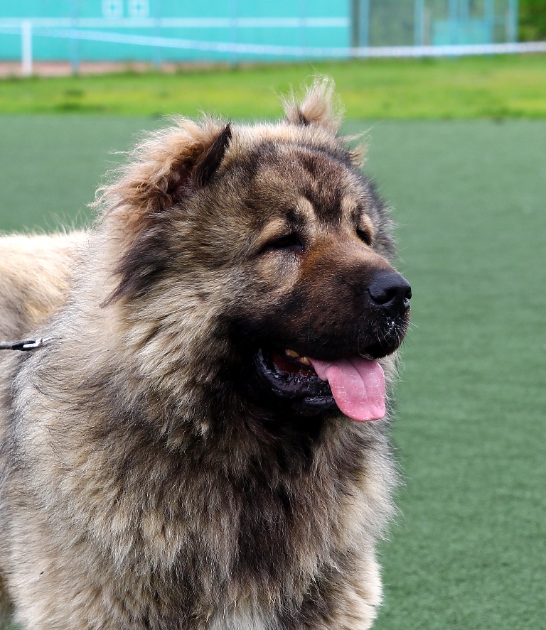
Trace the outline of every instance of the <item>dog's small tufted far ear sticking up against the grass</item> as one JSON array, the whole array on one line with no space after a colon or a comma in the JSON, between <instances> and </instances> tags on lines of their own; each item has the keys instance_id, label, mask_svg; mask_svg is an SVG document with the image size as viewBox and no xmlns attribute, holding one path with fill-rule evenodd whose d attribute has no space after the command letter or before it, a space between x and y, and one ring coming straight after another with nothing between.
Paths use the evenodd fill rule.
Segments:
<instances>
[{"instance_id":1,"label":"dog's small tufted far ear sticking up against the grass","mask_svg":"<svg viewBox=\"0 0 546 630\"><path fill-rule=\"evenodd\" d=\"M337 133L343 120L341 106L334 94L333 80L316 77L299 101L290 94L282 99L287 121L295 125L318 125Z\"/></svg>"}]
</instances>

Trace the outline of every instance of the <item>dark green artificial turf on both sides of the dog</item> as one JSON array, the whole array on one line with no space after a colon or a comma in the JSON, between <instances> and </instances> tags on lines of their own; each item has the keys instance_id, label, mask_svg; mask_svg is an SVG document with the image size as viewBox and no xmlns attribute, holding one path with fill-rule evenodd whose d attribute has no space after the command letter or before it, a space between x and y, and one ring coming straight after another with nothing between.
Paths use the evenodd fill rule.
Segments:
<instances>
[{"instance_id":1,"label":"dark green artificial turf on both sides of the dog","mask_svg":"<svg viewBox=\"0 0 546 630\"><path fill-rule=\"evenodd\" d=\"M0 116L0 227L85 212L151 119ZM546 121L384 121L368 171L411 281L401 516L375 630L545 627ZM80 214L80 218L84 214Z\"/></svg>"}]
</instances>

